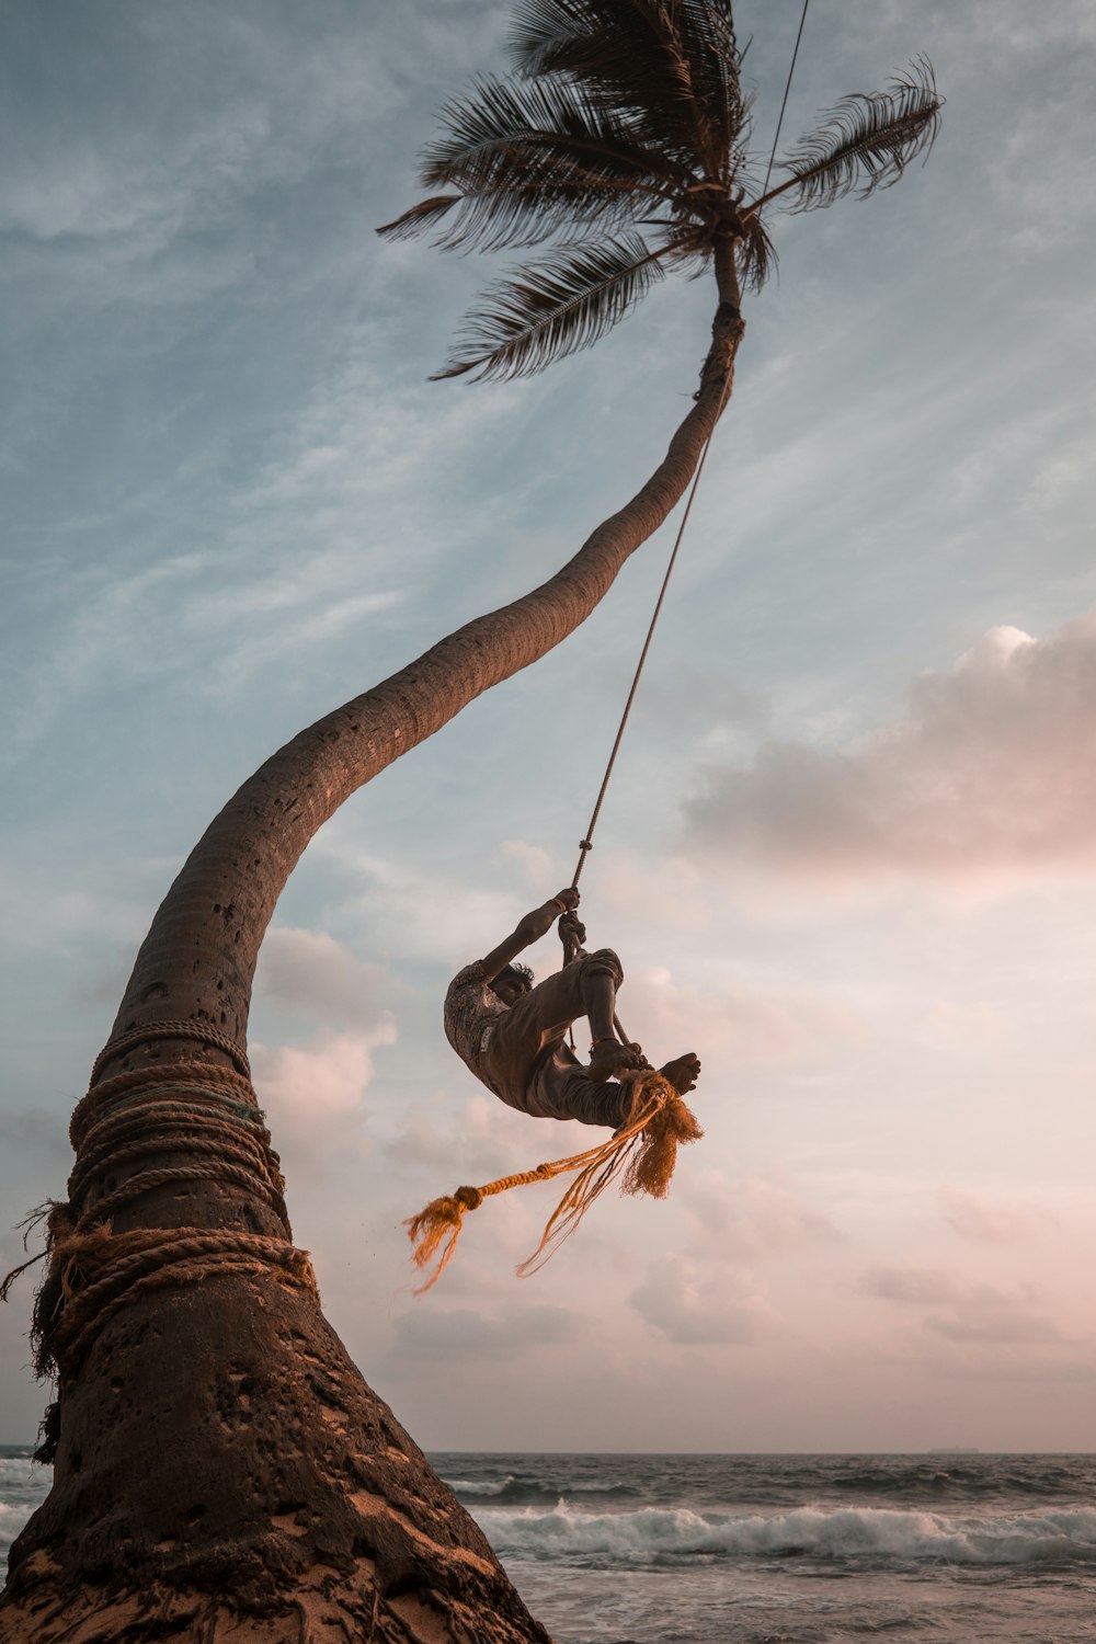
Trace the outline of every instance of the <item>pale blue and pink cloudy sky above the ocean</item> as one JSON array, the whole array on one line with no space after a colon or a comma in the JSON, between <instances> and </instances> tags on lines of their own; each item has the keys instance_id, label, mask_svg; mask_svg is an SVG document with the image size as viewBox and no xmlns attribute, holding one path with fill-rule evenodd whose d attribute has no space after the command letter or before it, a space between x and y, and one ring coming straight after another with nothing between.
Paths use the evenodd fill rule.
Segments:
<instances>
[{"instance_id":1,"label":"pale blue and pink cloudy sky above the ocean","mask_svg":"<svg viewBox=\"0 0 1096 1644\"><path fill-rule=\"evenodd\" d=\"M799 13L736 12L762 155ZM713 291L665 281L529 381L427 381L496 260L373 230L503 67L503 5L0 26L7 1269L207 820L638 488ZM1093 1447L1094 49L1086 0L810 7L789 146L919 53L946 109L897 187L771 220L583 873L628 1029L703 1060L670 1197L605 1197L527 1281L554 1190L495 1198L412 1294L404 1217L593 1139L503 1108L440 1008L570 878L669 528L281 899L256 1090L325 1312L424 1447ZM46 1397L31 1292L0 1442Z\"/></svg>"}]
</instances>

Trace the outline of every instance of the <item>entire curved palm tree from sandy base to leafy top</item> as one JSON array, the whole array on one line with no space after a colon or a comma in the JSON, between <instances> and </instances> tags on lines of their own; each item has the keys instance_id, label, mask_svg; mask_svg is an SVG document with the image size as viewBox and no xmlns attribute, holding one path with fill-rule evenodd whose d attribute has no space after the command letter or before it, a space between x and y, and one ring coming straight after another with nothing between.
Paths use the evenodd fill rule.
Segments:
<instances>
[{"instance_id":1,"label":"entire curved palm tree from sandy base to leafy top","mask_svg":"<svg viewBox=\"0 0 1096 1644\"><path fill-rule=\"evenodd\" d=\"M688 483L731 390L769 207L894 182L932 141L925 64L845 99L758 189L730 0L521 0L514 74L444 113L434 192L385 232L546 252L442 375L537 370L664 273L711 273L695 403L651 478L549 582L274 753L159 907L92 1088L35 1315L54 1485L12 1550L0 1641L546 1641L488 1544L366 1388L291 1243L246 1077L260 942L332 812L585 620ZM191 1282L199 1281L200 1282ZM184 1282L186 1281L186 1282Z\"/></svg>"}]
</instances>

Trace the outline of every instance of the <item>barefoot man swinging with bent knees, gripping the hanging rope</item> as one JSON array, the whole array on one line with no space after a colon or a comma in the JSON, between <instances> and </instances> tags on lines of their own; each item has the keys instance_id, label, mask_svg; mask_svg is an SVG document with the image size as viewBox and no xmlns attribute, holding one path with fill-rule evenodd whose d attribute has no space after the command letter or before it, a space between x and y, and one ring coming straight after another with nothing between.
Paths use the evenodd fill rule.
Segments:
<instances>
[{"instance_id":1,"label":"barefoot man swinging with bent knees, gripping the hanging rope","mask_svg":"<svg viewBox=\"0 0 1096 1644\"><path fill-rule=\"evenodd\" d=\"M537 986L527 965L514 965L518 954L562 916L582 942L577 906L577 889L560 891L526 914L486 958L457 972L445 995L445 1037L480 1083L508 1106L534 1118L618 1129L631 1106L628 1074L646 1065L639 1047L623 1044L616 1034L616 990L624 977L619 958L608 947L580 950ZM587 1067L565 1044L567 1029L580 1016L588 1018L593 1037ZM700 1077L700 1062L688 1052L667 1062L662 1074L685 1095Z\"/></svg>"}]
</instances>

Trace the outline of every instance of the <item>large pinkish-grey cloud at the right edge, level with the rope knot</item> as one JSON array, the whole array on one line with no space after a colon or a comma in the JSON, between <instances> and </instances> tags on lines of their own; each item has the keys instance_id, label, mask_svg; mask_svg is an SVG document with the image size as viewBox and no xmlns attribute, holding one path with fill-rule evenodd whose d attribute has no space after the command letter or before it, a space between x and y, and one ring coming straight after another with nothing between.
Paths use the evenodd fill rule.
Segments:
<instances>
[{"instance_id":1,"label":"large pinkish-grey cloud at the right edge, level with the rope knot","mask_svg":"<svg viewBox=\"0 0 1096 1644\"><path fill-rule=\"evenodd\" d=\"M766 743L687 807L710 858L856 880L1096 868L1096 613L991 628L848 751Z\"/></svg>"}]
</instances>

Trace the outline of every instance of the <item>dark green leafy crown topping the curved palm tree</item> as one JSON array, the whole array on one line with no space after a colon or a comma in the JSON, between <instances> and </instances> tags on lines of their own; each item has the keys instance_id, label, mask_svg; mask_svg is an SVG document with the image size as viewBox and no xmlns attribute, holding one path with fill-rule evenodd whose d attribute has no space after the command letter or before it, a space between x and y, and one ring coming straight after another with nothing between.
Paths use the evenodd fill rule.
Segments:
<instances>
[{"instance_id":1,"label":"dark green leafy crown topping the curved palm tree","mask_svg":"<svg viewBox=\"0 0 1096 1644\"><path fill-rule=\"evenodd\" d=\"M758 182L751 99L730 0L519 0L513 74L442 109L424 150L432 192L380 233L442 250L554 240L465 316L437 376L527 376L596 342L670 268L730 245L764 284L769 206L813 210L889 187L932 145L943 99L917 59L886 90L843 97Z\"/></svg>"}]
</instances>

